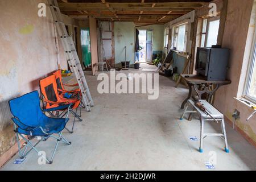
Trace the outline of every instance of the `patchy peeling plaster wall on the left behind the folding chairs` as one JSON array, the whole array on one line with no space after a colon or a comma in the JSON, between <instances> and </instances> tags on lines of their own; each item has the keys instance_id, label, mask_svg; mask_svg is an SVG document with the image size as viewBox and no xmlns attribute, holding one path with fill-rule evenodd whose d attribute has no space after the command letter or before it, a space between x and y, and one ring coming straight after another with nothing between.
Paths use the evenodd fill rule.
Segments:
<instances>
[{"instance_id":1,"label":"patchy peeling plaster wall on the left behind the folding chairs","mask_svg":"<svg viewBox=\"0 0 256 182\"><path fill-rule=\"evenodd\" d=\"M57 69L52 15L47 7L47 16L39 18L41 2L46 3L0 1L0 166L1 156L15 143L8 101L39 90L39 79ZM65 61L59 44L60 60Z\"/></svg>"}]
</instances>

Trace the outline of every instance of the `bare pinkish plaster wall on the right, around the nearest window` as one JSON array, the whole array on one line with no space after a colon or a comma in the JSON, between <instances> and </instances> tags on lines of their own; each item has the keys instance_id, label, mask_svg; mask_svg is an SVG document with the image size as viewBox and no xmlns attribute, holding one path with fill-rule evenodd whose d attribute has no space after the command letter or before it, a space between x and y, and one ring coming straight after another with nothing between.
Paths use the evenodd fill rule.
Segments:
<instances>
[{"instance_id":1,"label":"bare pinkish plaster wall on the right, around the nearest window","mask_svg":"<svg viewBox=\"0 0 256 182\"><path fill-rule=\"evenodd\" d=\"M245 132L250 140L256 142L256 117L251 118L250 122L246 122L246 118L253 112L253 109L233 98L238 95L241 74L246 74L242 72L242 64L252 6L253 0L228 1L222 47L231 49L228 78L232 80L232 84L222 86L217 91L214 103L230 121L232 121L233 111L238 109L241 112L241 119L237 121L237 126Z\"/></svg>"}]
</instances>

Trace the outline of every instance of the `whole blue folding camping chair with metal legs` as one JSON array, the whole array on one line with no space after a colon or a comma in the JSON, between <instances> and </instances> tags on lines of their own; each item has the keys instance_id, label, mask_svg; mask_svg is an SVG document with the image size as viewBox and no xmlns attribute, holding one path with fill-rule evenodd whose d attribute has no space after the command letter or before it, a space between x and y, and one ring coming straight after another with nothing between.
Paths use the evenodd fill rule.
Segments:
<instances>
[{"instance_id":1,"label":"whole blue folding camping chair with metal legs","mask_svg":"<svg viewBox=\"0 0 256 182\"><path fill-rule=\"evenodd\" d=\"M47 163L51 164L59 142L61 141L68 145L71 144L71 142L68 142L68 140L62 136L62 132L69 120L68 114L69 108L71 107L70 104L61 106L68 108L66 118L49 118L43 114L44 110L42 111L40 107L38 91L14 98L9 101L9 105L11 113L14 116L12 119L14 122L14 132L18 142L20 159L24 159L31 150L35 150L39 154L39 151L35 148L36 145L42 140L46 141L49 137L52 137L57 140L57 143L51 159L48 160L46 156L42 155L42 158L44 158ZM53 134L57 134L57 137ZM26 138L23 135L27 135L28 137ZM19 136L27 142L26 147L23 149L20 147ZM31 140L35 137L41 137L43 139L40 139L36 144L32 144ZM28 146L31 148L27 151Z\"/></svg>"}]
</instances>

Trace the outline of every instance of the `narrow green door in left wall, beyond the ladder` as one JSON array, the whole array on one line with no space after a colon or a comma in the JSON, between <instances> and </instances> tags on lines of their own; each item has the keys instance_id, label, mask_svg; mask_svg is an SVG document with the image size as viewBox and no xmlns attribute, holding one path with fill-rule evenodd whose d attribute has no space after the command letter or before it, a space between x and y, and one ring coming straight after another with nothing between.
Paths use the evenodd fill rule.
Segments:
<instances>
[{"instance_id":1,"label":"narrow green door in left wall, beyond the ladder","mask_svg":"<svg viewBox=\"0 0 256 182\"><path fill-rule=\"evenodd\" d=\"M82 62L85 67L92 64L92 56L90 52L90 30L89 28L81 28L81 46L82 46Z\"/></svg>"}]
</instances>

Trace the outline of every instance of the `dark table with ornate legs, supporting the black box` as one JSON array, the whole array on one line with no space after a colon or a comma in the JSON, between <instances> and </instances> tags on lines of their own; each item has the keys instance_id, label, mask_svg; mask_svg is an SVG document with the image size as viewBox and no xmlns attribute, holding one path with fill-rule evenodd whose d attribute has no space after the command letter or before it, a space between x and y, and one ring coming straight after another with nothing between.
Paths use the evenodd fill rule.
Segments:
<instances>
[{"instance_id":1,"label":"dark table with ornate legs, supporting the black box","mask_svg":"<svg viewBox=\"0 0 256 182\"><path fill-rule=\"evenodd\" d=\"M208 102L210 104L212 101L212 96L220 88L222 85L228 85L231 84L230 80L225 80L225 81L207 81L204 79L203 76L198 76L198 75L181 75L181 77L187 82L189 86L189 93L188 97L183 101L181 105L181 109L184 109L185 104L191 98L192 96L192 86L195 89L196 93L199 96L199 99L202 99L202 95L204 93L208 94Z\"/></svg>"}]
</instances>

